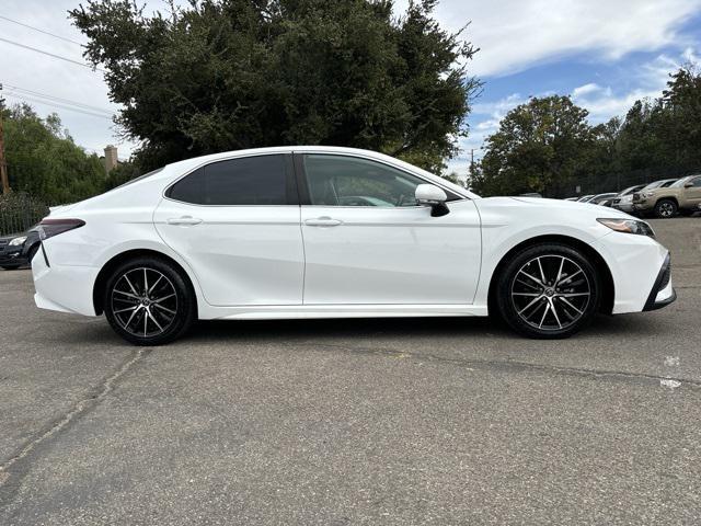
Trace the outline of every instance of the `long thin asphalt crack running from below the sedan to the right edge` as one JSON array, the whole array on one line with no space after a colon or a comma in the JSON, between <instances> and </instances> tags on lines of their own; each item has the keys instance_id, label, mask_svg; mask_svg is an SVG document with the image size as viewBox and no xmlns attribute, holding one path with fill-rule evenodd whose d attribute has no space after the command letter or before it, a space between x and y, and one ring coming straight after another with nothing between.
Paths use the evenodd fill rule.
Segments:
<instances>
[{"instance_id":1,"label":"long thin asphalt crack running from below the sedan to the right edge","mask_svg":"<svg viewBox=\"0 0 701 526\"><path fill-rule=\"evenodd\" d=\"M312 345L312 342L300 342L296 344L290 344L290 346L302 346L302 345ZM318 344L317 344L318 345ZM354 353L364 353L364 354L372 354L378 356L387 356L387 357L399 357L399 358L413 358L424 362L435 362L450 365L458 365L462 367L481 367L481 368L517 368L517 369L531 369L539 370L544 373L558 373L562 375L570 376L579 376L579 377L614 377L621 379L630 379L630 380L644 380L644 381L655 381L659 382L660 380L674 380L679 381L682 385L688 385L692 387L701 387L701 380L691 380L687 378L677 378L674 376L659 376L659 375L651 375L646 373L630 373L624 370L610 370L610 369L587 369L583 367L561 367L556 365L541 365L541 364L532 364L529 362L519 362L519 361L501 361L501 359L479 359L479 358L458 358L458 357L448 357L448 356L438 356L435 354L424 354L424 353L411 353L406 351L398 351L393 348L372 348L372 347L361 347L354 345L338 345L333 343L323 343L322 345L326 347L340 348L342 351L354 352Z\"/></svg>"}]
</instances>

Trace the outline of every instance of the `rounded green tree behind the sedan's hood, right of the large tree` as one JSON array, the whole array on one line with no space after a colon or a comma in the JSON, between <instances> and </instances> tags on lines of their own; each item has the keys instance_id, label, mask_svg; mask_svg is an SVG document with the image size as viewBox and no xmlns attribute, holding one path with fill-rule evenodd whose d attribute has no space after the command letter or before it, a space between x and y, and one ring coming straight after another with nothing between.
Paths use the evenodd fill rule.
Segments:
<instances>
[{"instance_id":1,"label":"rounded green tree behind the sedan's hood, right of the large tree","mask_svg":"<svg viewBox=\"0 0 701 526\"><path fill-rule=\"evenodd\" d=\"M568 96L533 98L506 114L485 141L471 187L485 195L556 195L589 170L596 134Z\"/></svg>"}]
</instances>

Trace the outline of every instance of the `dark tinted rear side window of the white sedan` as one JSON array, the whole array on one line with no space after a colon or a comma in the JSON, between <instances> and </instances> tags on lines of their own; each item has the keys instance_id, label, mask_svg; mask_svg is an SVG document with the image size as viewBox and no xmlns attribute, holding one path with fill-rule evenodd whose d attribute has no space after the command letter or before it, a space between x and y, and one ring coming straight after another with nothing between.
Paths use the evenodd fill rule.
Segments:
<instances>
[{"instance_id":1,"label":"dark tinted rear side window of the white sedan","mask_svg":"<svg viewBox=\"0 0 701 526\"><path fill-rule=\"evenodd\" d=\"M195 205L285 205L285 156L212 162L181 179L166 195Z\"/></svg>"}]
</instances>

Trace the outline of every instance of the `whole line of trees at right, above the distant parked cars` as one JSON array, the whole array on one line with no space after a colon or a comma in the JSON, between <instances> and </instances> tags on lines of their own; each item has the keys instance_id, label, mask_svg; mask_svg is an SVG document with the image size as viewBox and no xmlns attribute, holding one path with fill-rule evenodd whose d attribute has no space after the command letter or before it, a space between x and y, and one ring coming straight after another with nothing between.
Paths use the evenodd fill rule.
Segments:
<instances>
[{"instance_id":1,"label":"whole line of trees at right, above the distant parked cars","mask_svg":"<svg viewBox=\"0 0 701 526\"><path fill-rule=\"evenodd\" d=\"M563 196L583 181L605 181L608 191L632 173L662 179L655 173L700 170L701 75L685 66L669 76L662 96L636 101L623 121L597 126L567 96L531 99L504 117L484 148L471 179L484 195Z\"/></svg>"}]
</instances>

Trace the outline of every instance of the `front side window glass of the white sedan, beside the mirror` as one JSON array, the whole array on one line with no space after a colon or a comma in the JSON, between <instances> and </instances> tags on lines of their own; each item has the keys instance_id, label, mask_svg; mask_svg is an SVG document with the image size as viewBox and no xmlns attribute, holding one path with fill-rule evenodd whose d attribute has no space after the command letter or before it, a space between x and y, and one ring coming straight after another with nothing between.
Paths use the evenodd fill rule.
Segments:
<instances>
[{"instance_id":1,"label":"front side window glass of the white sedan, beside the mirror","mask_svg":"<svg viewBox=\"0 0 701 526\"><path fill-rule=\"evenodd\" d=\"M426 183L380 162L356 157L304 155L310 204L322 206L416 206Z\"/></svg>"}]
</instances>

